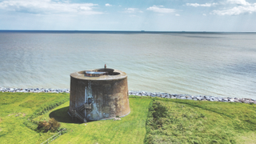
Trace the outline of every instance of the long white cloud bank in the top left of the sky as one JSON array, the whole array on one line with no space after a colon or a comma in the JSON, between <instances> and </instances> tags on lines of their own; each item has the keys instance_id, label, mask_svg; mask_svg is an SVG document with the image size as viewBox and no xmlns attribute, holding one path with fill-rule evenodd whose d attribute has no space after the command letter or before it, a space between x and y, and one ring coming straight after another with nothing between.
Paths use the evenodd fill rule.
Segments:
<instances>
[{"instance_id":1,"label":"long white cloud bank in the top left of the sky","mask_svg":"<svg viewBox=\"0 0 256 144\"><path fill-rule=\"evenodd\" d=\"M94 3L53 2L51 0L9 0L0 2L0 9L30 14L102 14L94 11Z\"/></svg>"}]
</instances>

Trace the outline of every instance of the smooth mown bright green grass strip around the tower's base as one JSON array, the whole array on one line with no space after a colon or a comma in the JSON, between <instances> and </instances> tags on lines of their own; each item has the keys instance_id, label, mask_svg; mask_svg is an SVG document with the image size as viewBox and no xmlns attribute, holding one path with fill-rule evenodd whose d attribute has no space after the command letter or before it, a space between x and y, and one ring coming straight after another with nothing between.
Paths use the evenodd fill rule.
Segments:
<instances>
[{"instance_id":1,"label":"smooth mown bright green grass strip around the tower's base","mask_svg":"<svg viewBox=\"0 0 256 144\"><path fill-rule=\"evenodd\" d=\"M67 128L67 133L52 143L143 143L146 117L151 98L130 98L130 114L121 121L103 120L84 123L72 122L67 114L69 102L38 117L55 118Z\"/></svg>"}]
</instances>

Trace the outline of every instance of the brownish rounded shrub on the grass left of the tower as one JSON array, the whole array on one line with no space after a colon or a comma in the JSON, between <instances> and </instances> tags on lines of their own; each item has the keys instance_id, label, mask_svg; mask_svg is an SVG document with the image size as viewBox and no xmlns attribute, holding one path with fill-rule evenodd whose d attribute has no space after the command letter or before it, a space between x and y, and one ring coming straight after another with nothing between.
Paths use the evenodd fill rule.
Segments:
<instances>
[{"instance_id":1,"label":"brownish rounded shrub on the grass left of the tower","mask_svg":"<svg viewBox=\"0 0 256 144\"><path fill-rule=\"evenodd\" d=\"M57 122L54 118L50 118L49 122L40 121L38 122L38 130L47 132L49 130L56 131L61 126L59 122Z\"/></svg>"}]
</instances>

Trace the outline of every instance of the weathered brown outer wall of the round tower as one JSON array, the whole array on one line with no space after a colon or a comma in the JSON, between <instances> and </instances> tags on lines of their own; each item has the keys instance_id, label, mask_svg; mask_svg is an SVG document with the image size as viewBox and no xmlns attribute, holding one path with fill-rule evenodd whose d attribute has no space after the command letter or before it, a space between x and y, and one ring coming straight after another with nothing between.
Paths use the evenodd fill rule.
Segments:
<instances>
[{"instance_id":1,"label":"weathered brown outer wall of the round tower","mask_svg":"<svg viewBox=\"0 0 256 144\"><path fill-rule=\"evenodd\" d=\"M129 114L127 75L120 70L114 70L114 74L100 77L87 77L83 71L70 74L70 111L78 110L91 98L92 109L82 111L86 120Z\"/></svg>"}]
</instances>

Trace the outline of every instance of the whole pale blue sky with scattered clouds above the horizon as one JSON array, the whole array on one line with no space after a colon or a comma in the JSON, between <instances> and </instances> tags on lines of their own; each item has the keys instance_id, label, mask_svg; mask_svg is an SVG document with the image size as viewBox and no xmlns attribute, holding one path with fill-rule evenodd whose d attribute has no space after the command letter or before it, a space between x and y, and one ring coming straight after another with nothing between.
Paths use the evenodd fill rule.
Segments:
<instances>
[{"instance_id":1,"label":"whole pale blue sky with scattered clouds above the horizon","mask_svg":"<svg viewBox=\"0 0 256 144\"><path fill-rule=\"evenodd\" d=\"M256 32L256 0L0 0L0 30Z\"/></svg>"}]
</instances>

